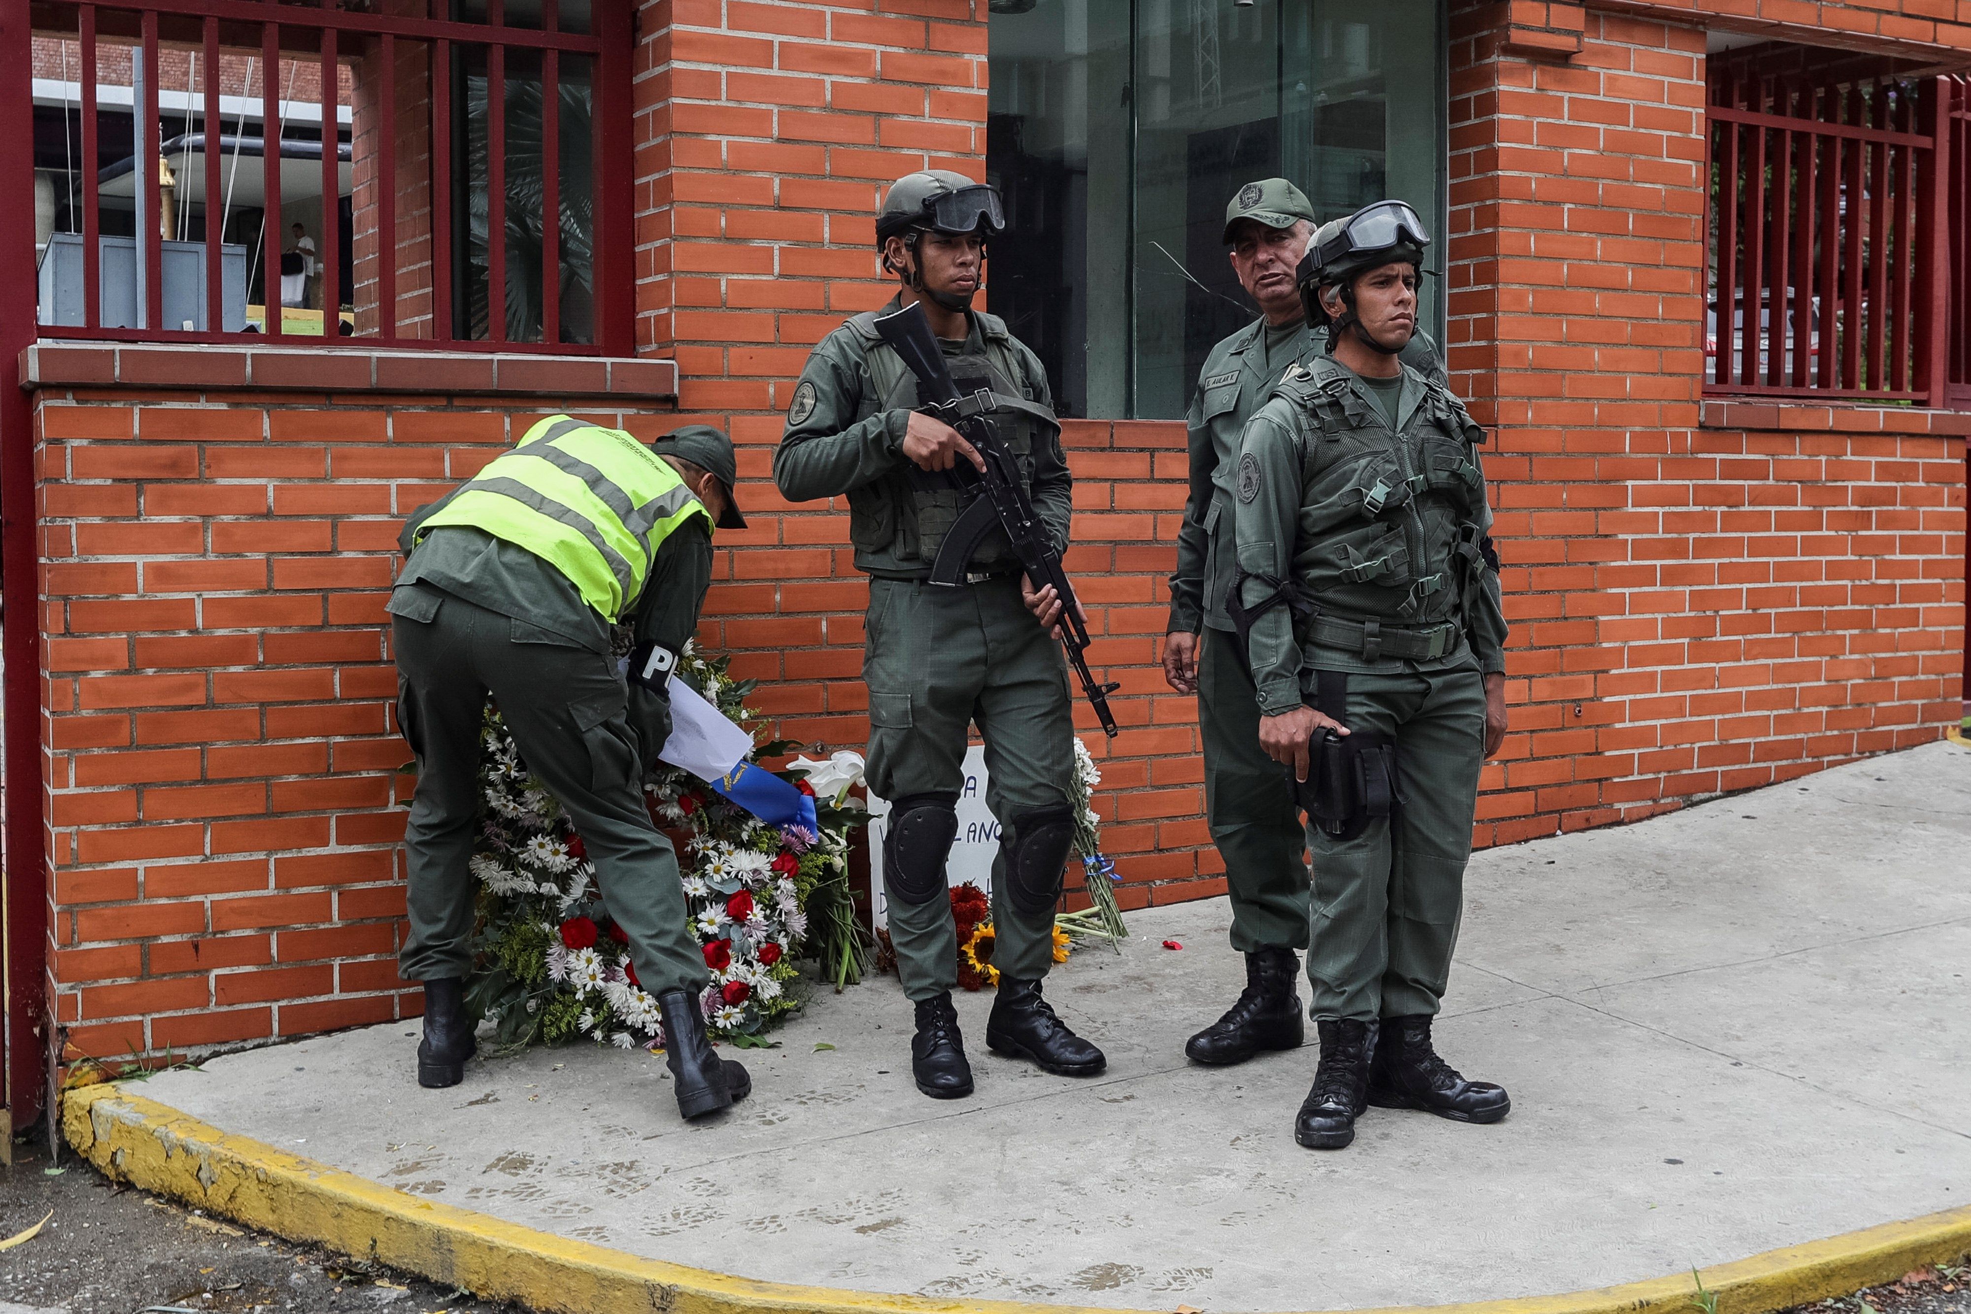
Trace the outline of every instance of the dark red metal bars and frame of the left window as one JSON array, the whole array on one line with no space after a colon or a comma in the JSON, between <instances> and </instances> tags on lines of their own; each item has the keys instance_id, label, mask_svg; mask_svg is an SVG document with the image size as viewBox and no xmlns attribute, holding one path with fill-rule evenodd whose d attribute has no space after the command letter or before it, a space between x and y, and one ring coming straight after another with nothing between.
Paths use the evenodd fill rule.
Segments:
<instances>
[{"instance_id":1,"label":"dark red metal bars and frame of the left window","mask_svg":"<svg viewBox=\"0 0 1971 1314\"><path fill-rule=\"evenodd\" d=\"M319 303L321 339L307 339L323 347L374 345L376 341L396 345L424 345L447 349L497 349L497 351L546 351L546 353L611 353L633 351L633 262L629 248L611 240L629 232L631 189L629 169L629 87L631 75L629 45L633 41L623 0L593 0L593 14L572 10L574 0L544 0L540 26L510 26L503 14L503 0L487 0L483 22L473 22L461 14L457 4L365 4L343 8L345 0L317 0L315 4L290 4L282 0L43 0L34 8L37 33L73 39L81 47L81 160L79 171L79 229L81 229L81 301L75 323L55 323L53 305L41 307L37 331L49 337L104 339L104 341L170 341L170 343L229 343L238 345L240 335L225 331L229 319L227 296L238 297L238 278L227 266L229 229L235 238L233 258L238 260L237 244L246 242L248 268L258 270L262 286L260 301L266 307L260 329L270 339L292 335L294 325L284 323L280 296L280 258L286 244L286 225L282 217L282 140L294 136L294 104L290 91L296 71L313 65L319 71L315 100L321 108L321 223L317 232L319 262ZM365 12L388 8L390 12ZM568 14L576 14L574 20ZM225 41L225 43L223 43ZM124 323L104 323L104 234L102 234L102 187L110 181L102 169L101 154L101 106L99 83L104 77L102 47L126 47L138 69L138 95L134 104L136 150L124 167L142 171L134 179L132 219L136 227L136 264L142 270L142 296L138 299L134 327ZM623 49L613 49L621 45ZM487 280L485 329L475 335L467 317L457 311L453 292L459 288L463 268L455 260L471 258L455 238L453 225L469 215L469 195L453 179L467 179L473 169L453 160L453 152L469 150L469 134L457 130L453 114L463 110L453 89L455 61L467 51L475 59L483 57L487 69L487 132L485 132L485 183L487 183L487 242L485 268L475 276ZM526 59L516 59L509 51L524 51ZM168 53L168 57L166 57ZM187 63L189 57L189 63ZM258 102L262 120L260 142L260 189L264 195L262 223L240 227L237 215L229 215L229 201L238 175L238 156L242 146L250 152L252 142L240 140L244 134L235 128L225 132L223 97L225 77L238 79L242 61L250 57L252 77L238 85L238 97ZM587 215L593 232L587 232L587 266L566 266L570 244L562 240L564 201L568 183L564 177L562 132L570 126L562 102L562 75L574 57L581 65L583 85L589 97L589 132L595 148L591 177L579 185L593 189L591 197L581 197L574 215ZM345 63L349 61L349 63ZM345 67L357 71L357 95L345 97L341 73ZM187 75L187 67L197 67L197 83ZM530 258L528 252L514 252L509 242L509 211L518 223L522 205L510 199L509 183L514 179L512 134L509 114L514 112L516 77L536 77L540 83L540 252L538 276L540 296L532 297L534 307L514 319L516 301L509 296L507 272L522 270L526 278L534 272L516 258ZM162 77L183 81L162 89ZM365 87L371 77L374 85ZM408 83L418 79L422 104L414 104ZM617 87L615 81L623 81ZM183 95L185 132L191 134L191 116L199 118L197 140L171 144L173 160L191 150L203 152L203 167L193 177L175 177L179 187L177 211L189 213L191 193L197 183L205 201L203 242L183 240L183 232L168 238L164 209L164 175L160 165L166 156L166 142L160 140L160 91ZM404 93L400 97L400 93ZM510 95L512 93L512 95ZM373 100L369 104L365 95ZM306 93L304 93L306 99ZM363 150L373 152L363 162L367 177L374 179L374 197L357 215L355 230L365 236L361 260L371 260L373 272L343 270L341 244L345 219L337 211L341 199L341 150L355 152L355 144L339 142L339 112L345 102L355 114L367 114ZM607 112L621 112L623 124L605 124ZM177 110L171 110L173 122ZM416 114L416 120L406 118ZM430 116L428 126L422 120ZM282 128L290 132L284 134ZM416 160L400 154L404 142L398 130L410 128L412 138L428 142L426 158ZM428 128L428 136L426 136ZM355 138L357 132L351 132ZM294 148L294 142L288 142ZM621 156L621 158L617 158ZM248 156L250 160L250 156ZM461 167L453 167L461 164ZM528 167L532 162L528 160ZM418 169L428 171L428 185L418 187L412 177ZM292 181L294 173L288 173ZM469 183L467 183L469 185ZM406 189L400 195L400 189ZM418 205L406 199L418 195ZM621 211L621 213L619 213ZM578 230L579 232L579 230ZM110 238L124 240L128 238ZM181 288L166 296L166 260L175 258L181 248L195 250L203 264L203 278L195 280L189 294ZM237 266L235 266L237 268ZM428 270L428 274L424 274ZM418 272L418 286L406 284L408 272ZM568 317L562 315L560 292L566 278L585 280L587 299L593 305L593 321L583 319L576 335L593 341L564 341L570 337ZM357 339L339 339L337 321L343 299L351 301L363 290L363 297L374 296L374 315L363 315L367 325ZM398 307L398 294L416 297L412 307ZM187 305L203 311L205 327L185 331L177 323L166 323L166 305L181 315ZM424 297L430 297L424 301ZM237 323L238 307L233 307ZM311 329L309 329L311 331Z\"/></svg>"}]
</instances>

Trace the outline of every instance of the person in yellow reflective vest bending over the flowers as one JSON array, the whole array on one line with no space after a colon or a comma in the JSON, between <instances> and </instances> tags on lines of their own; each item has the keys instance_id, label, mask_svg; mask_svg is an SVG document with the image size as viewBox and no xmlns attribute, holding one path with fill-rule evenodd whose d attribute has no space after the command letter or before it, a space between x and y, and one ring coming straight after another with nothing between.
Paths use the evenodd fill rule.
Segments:
<instances>
[{"instance_id":1,"label":"person in yellow reflective vest bending over the flowers","mask_svg":"<svg viewBox=\"0 0 1971 1314\"><path fill-rule=\"evenodd\" d=\"M637 979L656 997L678 1111L700 1117L751 1091L745 1068L706 1038L706 959L678 857L643 804L643 764L670 735L670 670L712 581L712 526L745 528L733 479L717 429L690 426L646 447L548 416L404 526L410 561L388 611L418 790L398 971L424 981L420 1085L457 1085L475 1050L461 979L491 693L528 770L568 810ZM619 621L637 638L627 682L609 648Z\"/></svg>"}]
</instances>

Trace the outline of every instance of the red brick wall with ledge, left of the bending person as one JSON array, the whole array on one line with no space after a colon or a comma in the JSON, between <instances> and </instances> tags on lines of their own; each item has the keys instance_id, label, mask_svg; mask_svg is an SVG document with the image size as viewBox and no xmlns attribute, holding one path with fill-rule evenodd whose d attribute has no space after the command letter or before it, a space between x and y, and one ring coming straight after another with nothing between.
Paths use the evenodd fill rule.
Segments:
<instances>
[{"instance_id":1,"label":"red brick wall with ledge, left of the bending person","mask_svg":"<svg viewBox=\"0 0 1971 1314\"><path fill-rule=\"evenodd\" d=\"M114 378L108 351L39 355L43 374ZM491 384L491 359L371 374L367 355L254 353L260 392L244 361L126 349L122 386L35 398L49 977L71 1056L398 1015L408 751L382 605L402 516L544 412L635 424L607 396L443 392ZM668 372L635 364L650 374L583 368L641 404Z\"/></svg>"}]
</instances>

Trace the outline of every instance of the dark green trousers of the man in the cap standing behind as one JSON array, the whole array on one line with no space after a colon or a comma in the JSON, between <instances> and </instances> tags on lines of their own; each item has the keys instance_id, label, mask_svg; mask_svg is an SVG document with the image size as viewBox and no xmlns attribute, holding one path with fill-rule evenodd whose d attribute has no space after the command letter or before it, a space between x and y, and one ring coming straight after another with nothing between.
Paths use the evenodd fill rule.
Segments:
<instances>
[{"instance_id":1,"label":"dark green trousers of the man in the cap standing behind","mask_svg":"<svg viewBox=\"0 0 1971 1314\"><path fill-rule=\"evenodd\" d=\"M1307 948L1307 835L1293 788L1259 747L1259 691L1232 630L1198 634L1204 820L1226 863L1232 948Z\"/></svg>"}]
</instances>

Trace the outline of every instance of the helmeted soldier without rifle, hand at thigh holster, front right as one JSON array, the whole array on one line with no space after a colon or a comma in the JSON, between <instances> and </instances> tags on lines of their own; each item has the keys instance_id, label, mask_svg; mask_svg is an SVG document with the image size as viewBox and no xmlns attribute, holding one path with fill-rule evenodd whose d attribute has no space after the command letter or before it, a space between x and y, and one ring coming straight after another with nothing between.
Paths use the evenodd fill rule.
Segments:
<instances>
[{"instance_id":1,"label":"helmeted soldier without rifle, hand at thigh holster, front right","mask_svg":"<svg viewBox=\"0 0 1971 1314\"><path fill-rule=\"evenodd\" d=\"M1299 282L1332 355L1285 372L1240 439L1234 621L1259 745L1309 812L1321 1066L1305 1147L1364 1107L1506 1117L1431 1044L1470 857L1478 768L1506 735L1498 558L1453 392L1397 359L1429 236L1401 201L1319 229Z\"/></svg>"}]
</instances>

